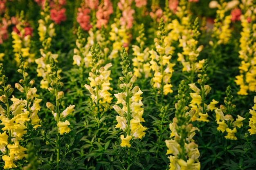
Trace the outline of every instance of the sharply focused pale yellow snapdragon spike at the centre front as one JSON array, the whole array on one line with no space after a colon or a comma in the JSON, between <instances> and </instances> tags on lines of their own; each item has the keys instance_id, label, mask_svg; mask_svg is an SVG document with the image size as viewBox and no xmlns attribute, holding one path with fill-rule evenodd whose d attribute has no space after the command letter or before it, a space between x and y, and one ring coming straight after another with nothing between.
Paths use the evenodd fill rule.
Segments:
<instances>
[{"instance_id":1,"label":"sharply focused pale yellow snapdragon spike at the centre front","mask_svg":"<svg viewBox=\"0 0 256 170\"><path fill-rule=\"evenodd\" d=\"M146 127L141 125L144 122L142 115L144 113L143 103L141 102L141 94L143 93L138 86L132 88L133 83L136 81L136 76L130 71L130 61L128 55L122 47L121 50L121 67L123 77L119 77L122 84L120 88L123 92L114 94L117 98L116 105L113 108L117 111L116 128L120 128L126 132L126 137L121 135L121 147L130 148L130 141L132 139L142 139L145 136ZM117 106L121 104L123 107Z\"/></svg>"}]
</instances>

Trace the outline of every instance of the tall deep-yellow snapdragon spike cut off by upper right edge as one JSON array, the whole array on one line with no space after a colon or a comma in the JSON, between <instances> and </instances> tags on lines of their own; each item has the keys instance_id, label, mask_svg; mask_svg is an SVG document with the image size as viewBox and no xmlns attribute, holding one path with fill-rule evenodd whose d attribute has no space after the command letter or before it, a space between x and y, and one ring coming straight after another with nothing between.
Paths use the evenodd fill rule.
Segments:
<instances>
[{"instance_id":1,"label":"tall deep-yellow snapdragon spike cut off by upper right edge","mask_svg":"<svg viewBox=\"0 0 256 170\"><path fill-rule=\"evenodd\" d=\"M252 92L256 86L256 23L248 21L248 18L252 20L256 12L256 7L243 7L246 12L240 16L241 25L243 27L241 31L240 51L239 57L242 59L239 68L240 75L236 76L236 85L240 86L238 95L248 95L248 91Z\"/></svg>"}]
</instances>

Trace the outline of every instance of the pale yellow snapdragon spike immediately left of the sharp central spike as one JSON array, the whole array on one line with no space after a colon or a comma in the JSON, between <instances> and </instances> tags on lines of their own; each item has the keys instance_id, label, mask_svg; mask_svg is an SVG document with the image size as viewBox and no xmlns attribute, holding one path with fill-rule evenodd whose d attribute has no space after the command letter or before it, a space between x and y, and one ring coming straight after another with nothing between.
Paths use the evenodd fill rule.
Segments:
<instances>
[{"instance_id":1,"label":"pale yellow snapdragon spike immediately left of the sharp central spike","mask_svg":"<svg viewBox=\"0 0 256 170\"><path fill-rule=\"evenodd\" d=\"M99 45L96 49L92 46L92 69L89 73L88 79L90 80L90 85L85 84L85 88L91 93L91 99L96 104L101 104L105 109L108 108L112 101L111 93L112 88L110 87L110 73L108 70L112 64L108 63L105 66L102 65L102 60L100 59ZM102 110L99 110L102 111Z\"/></svg>"}]
</instances>

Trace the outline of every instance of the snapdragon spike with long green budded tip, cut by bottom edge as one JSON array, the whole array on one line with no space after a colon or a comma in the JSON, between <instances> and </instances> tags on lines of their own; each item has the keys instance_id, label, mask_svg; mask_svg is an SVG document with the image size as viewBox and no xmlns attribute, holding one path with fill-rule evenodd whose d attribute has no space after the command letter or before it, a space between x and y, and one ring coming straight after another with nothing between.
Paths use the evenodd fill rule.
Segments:
<instances>
[{"instance_id":1,"label":"snapdragon spike with long green budded tip, cut by bottom edge","mask_svg":"<svg viewBox=\"0 0 256 170\"><path fill-rule=\"evenodd\" d=\"M184 80L179 85L178 99L175 104L175 117L173 123L170 124L171 140L166 140L168 148L166 155L170 155L170 170L190 169L200 170L200 152L198 145L195 144L193 136L195 131L199 129L193 127L190 123L191 117L195 114L195 110L189 110L186 106L189 97L186 96L186 83Z\"/></svg>"}]
</instances>

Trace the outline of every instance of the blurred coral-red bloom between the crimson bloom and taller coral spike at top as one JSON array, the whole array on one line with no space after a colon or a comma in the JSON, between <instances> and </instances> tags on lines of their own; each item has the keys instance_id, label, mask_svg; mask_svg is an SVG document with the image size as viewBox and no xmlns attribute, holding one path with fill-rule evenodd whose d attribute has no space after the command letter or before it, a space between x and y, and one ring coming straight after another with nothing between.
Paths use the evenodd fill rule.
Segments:
<instances>
[{"instance_id":1,"label":"blurred coral-red bloom between the crimson bloom and taller coral spike at top","mask_svg":"<svg viewBox=\"0 0 256 170\"><path fill-rule=\"evenodd\" d=\"M90 11L91 10L89 8L78 8L76 21L81 26L81 29L85 31L89 31L89 29L92 28L92 25L90 24Z\"/></svg>"}]
</instances>

